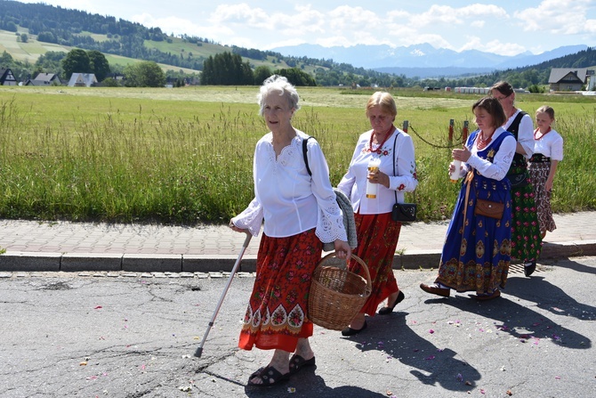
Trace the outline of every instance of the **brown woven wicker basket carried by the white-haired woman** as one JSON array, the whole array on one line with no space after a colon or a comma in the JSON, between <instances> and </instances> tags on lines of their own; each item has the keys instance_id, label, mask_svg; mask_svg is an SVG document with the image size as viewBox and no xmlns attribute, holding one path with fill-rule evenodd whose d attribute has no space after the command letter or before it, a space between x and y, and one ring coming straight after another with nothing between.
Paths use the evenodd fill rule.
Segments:
<instances>
[{"instance_id":1,"label":"brown woven wicker basket carried by the white-haired woman","mask_svg":"<svg viewBox=\"0 0 596 398\"><path fill-rule=\"evenodd\" d=\"M358 256L351 255L362 266L366 279L347 270L345 260L336 259L335 253L323 257L312 275L309 294L308 318L325 329L342 330L360 311L373 287L368 267ZM328 265L343 264L346 269Z\"/></svg>"}]
</instances>

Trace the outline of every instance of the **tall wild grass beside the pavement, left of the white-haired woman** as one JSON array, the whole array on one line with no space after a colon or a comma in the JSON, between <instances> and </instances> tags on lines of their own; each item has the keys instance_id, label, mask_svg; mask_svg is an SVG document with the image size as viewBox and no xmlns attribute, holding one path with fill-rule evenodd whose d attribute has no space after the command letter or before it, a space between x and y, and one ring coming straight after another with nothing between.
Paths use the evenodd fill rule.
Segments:
<instances>
[{"instance_id":1,"label":"tall wild grass beside the pavement, left of the white-haired woman","mask_svg":"<svg viewBox=\"0 0 596 398\"><path fill-rule=\"evenodd\" d=\"M4 102L0 123L4 217L218 222L252 199L262 120L230 108L205 123L107 115L67 132L28 126Z\"/></svg>"}]
</instances>

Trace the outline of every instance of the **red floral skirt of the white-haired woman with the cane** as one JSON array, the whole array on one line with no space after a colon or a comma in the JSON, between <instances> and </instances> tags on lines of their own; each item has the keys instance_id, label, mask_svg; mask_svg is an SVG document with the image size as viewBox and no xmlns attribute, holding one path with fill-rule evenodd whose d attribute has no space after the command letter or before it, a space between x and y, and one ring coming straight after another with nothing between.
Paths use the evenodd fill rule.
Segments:
<instances>
[{"instance_id":1,"label":"red floral skirt of the white-haired woman with the cane","mask_svg":"<svg viewBox=\"0 0 596 398\"><path fill-rule=\"evenodd\" d=\"M298 338L312 336L307 318L310 280L322 249L314 229L287 238L262 235L238 347L293 353Z\"/></svg>"}]
</instances>

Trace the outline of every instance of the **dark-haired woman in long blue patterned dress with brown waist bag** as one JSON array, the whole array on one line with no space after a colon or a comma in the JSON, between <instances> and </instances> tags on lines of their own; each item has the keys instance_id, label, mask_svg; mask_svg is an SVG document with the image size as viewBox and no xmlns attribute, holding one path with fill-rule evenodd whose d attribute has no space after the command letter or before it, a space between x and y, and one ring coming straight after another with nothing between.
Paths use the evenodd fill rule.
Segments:
<instances>
[{"instance_id":1,"label":"dark-haired woman in long blue patterned dress with brown waist bag","mask_svg":"<svg viewBox=\"0 0 596 398\"><path fill-rule=\"evenodd\" d=\"M421 284L427 293L449 296L451 290L473 291L479 300L501 296L511 263L511 185L505 177L515 153L515 138L503 129L503 107L485 97L472 105L479 129L463 149L453 150L463 163L465 175L447 228L439 264L432 284ZM449 171L454 171L454 164ZM503 204L503 214L493 218L477 214L479 200Z\"/></svg>"}]
</instances>

